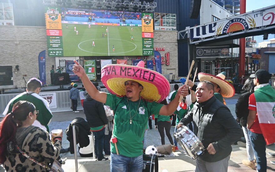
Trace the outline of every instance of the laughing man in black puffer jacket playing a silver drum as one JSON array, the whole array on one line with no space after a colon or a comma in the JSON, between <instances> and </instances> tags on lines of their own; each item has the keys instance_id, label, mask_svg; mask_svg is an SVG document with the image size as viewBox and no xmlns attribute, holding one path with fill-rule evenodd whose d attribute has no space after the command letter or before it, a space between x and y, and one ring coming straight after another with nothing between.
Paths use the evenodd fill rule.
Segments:
<instances>
[{"instance_id":1,"label":"laughing man in black puffer jacket playing a silver drum","mask_svg":"<svg viewBox=\"0 0 275 172\"><path fill-rule=\"evenodd\" d=\"M230 110L214 96L214 85L201 81L196 89L197 102L177 128L194 124L194 134L207 148L196 160L196 172L226 172L232 152L231 144L243 135Z\"/></svg>"}]
</instances>

